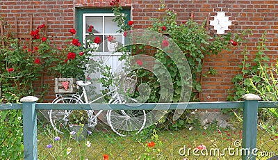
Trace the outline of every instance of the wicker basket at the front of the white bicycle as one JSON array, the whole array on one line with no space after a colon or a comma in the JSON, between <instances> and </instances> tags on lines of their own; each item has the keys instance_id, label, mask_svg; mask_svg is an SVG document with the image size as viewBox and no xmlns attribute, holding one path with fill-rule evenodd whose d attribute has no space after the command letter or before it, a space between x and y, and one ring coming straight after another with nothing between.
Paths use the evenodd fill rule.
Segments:
<instances>
[{"instance_id":1,"label":"wicker basket at the front of the white bicycle","mask_svg":"<svg viewBox=\"0 0 278 160\"><path fill-rule=\"evenodd\" d=\"M132 75L131 77L122 76L120 79L120 86L124 90L124 93L133 94L136 89L137 76Z\"/></svg>"}]
</instances>

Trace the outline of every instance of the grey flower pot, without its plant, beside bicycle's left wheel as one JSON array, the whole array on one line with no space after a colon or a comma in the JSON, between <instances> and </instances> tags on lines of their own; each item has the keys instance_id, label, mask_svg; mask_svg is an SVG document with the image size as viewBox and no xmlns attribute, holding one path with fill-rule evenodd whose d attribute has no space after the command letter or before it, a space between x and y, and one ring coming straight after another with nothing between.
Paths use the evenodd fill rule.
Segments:
<instances>
[{"instance_id":1,"label":"grey flower pot, without its plant, beside bicycle's left wheel","mask_svg":"<svg viewBox=\"0 0 278 160\"><path fill-rule=\"evenodd\" d=\"M82 141L88 135L88 125L70 125L70 133L76 141Z\"/></svg>"}]
</instances>

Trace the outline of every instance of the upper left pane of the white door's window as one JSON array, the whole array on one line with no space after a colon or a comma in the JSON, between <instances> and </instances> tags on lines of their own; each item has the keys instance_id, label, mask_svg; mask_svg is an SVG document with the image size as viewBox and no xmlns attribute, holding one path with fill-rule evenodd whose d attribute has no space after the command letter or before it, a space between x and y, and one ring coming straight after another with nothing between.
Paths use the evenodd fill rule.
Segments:
<instances>
[{"instance_id":1,"label":"upper left pane of the white door's window","mask_svg":"<svg viewBox=\"0 0 278 160\"><path fill-rule=\"evenodd\" d=\"M94 26L95 31L92 33L104 33L102 29L102 16L87 16L86 17L86 33L88 33L89 26Z\"/></svg>"}]
</instances>

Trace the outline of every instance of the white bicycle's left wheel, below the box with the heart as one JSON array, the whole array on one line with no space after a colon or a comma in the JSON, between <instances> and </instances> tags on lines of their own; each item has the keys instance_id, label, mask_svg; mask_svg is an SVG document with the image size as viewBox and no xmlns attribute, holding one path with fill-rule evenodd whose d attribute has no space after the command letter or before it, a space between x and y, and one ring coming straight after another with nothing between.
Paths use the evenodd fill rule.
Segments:
<instances>
[{"instance_id":1,"label":"white bicycle's left wheel, below the box with the heart","mask_svg":"<svg viewBox=\"0 0 278 160\"><path fill-rule=\"evenodd\" d=\"M54 104L83 104L80 99L75 97L66 96L55 99ZM58 131L60 134L63 134L63 130L67 129L69 115L72 113L72 110L50 110L49 111L49 120L52 127Z\"/></svg>"}]
</instances>

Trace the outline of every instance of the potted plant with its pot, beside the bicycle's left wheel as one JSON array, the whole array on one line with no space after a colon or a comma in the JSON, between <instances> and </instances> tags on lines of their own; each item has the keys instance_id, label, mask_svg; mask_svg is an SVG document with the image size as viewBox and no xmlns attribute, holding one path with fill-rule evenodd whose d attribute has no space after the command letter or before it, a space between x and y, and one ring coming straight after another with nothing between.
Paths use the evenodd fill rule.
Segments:
<instances>
[{"instance_id":1,"label":"potted plant with its pot, beside the bicycle's left wheel","mask_svg":"<svg viewBox=\"0 0 278 160\"><path fill-rule=\"evenodd\" d=\"M88 134L88 113L85 110L74 110L69 116L70 134L76 141L81 141Z\"/></svg>"}]
</instances>

